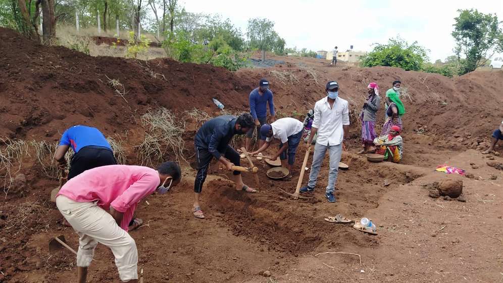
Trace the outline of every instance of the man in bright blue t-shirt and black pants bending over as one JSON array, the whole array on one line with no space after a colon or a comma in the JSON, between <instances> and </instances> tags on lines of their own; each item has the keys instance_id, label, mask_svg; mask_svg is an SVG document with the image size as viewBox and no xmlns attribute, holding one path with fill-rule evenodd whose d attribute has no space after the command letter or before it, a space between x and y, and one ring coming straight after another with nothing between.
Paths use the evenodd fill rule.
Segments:
<instances>
[{"instance_id":1,"label":"man in bright blue t-shirt and black pants bending over","mask_svg":"<svg viewBox=\"0 0 503 283\"><path fill-rule=\"evenodd\" d=\"M65 154L70 147L74 155L70 161L69 180L85 170L117 164L110 144L103 133L96 128L73 126L63 133L54 155L61 169L66 168Z\"/></svg>"}]
</instances>

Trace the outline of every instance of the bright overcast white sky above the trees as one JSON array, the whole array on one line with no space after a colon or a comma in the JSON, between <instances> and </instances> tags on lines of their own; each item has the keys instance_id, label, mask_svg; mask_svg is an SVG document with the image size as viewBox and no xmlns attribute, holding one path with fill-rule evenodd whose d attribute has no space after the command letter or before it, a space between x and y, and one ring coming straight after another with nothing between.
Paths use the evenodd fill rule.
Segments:
<instances>
[{"instance_id":1,"label":"bright overcast white sky above the trees","mask_svg":"<svg viewBox=\"0 0 503 283\"><path fill-rule=\"evenodd\" d=\"M409 43L429 49L430 61L453 55L450 35L458 9L477 9L503 20L503 1L488 0L180 0L188 12L220 14L246 33L248 19L266 18L286 41L286 47L308 50L371 51L371 44L386 43L400 35Z\"/></svg>"}]
</instances>

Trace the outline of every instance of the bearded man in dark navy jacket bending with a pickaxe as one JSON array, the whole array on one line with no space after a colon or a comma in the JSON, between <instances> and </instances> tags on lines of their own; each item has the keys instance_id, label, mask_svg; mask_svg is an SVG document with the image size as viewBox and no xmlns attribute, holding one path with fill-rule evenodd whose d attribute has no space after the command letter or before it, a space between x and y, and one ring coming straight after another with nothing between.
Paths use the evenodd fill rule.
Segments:
<instances>
[{"instance_id":1,"label":"bearded man in dark navy jacket bending with a pickaxe","mask_svg":"<svg viewBox=\"0 0 503 283\"><path fill-rule=\"evenodd\" d=\"M197 158L197 175L194 182L194 206L192 213L197 218L205 218L199 205L199 196L203 190L203 184L208 174L208 167L213 157L225 165L227 170L232 171L232 166L240 166L239 154L229 142L235 134L245 134L254 121L252 115L245 113L238 118L232 115L223 115L209 120L199 128L195 134L195 156ZM230 162L228 160L230 160ZM243 183L241 173L233 171L236 176L236 190L248 193L257 192Z\"/></svg>"}]
</instances>

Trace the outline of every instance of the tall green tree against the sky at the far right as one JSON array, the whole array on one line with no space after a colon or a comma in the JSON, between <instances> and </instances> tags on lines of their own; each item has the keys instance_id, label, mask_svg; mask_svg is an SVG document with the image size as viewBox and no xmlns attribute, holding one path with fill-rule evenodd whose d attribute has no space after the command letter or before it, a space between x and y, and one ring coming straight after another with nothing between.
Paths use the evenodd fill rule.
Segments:
<instances>
[{"instance_id":1,"label":"tall green tree against the sky at the far right","mask_svg":"<svg viewBox=\"0 0 503 283\"><path fill-rule=\"evenodd\" d=\"M460 62L460 75L474 71L484 65L486 58L495 52L503 51L503 32L499 27L498 17L494 14L482 14L477 10L458 10L459 17L452 36L456 40L454 52L465 60Z\"/></svg>"}]
</instances>

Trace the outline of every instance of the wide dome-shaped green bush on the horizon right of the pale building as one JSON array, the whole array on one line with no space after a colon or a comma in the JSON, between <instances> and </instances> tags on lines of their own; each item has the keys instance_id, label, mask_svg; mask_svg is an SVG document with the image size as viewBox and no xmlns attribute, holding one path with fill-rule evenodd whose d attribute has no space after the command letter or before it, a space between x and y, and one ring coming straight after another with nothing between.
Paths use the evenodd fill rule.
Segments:
<instances>
[{"instance_id":1,"label":"wide dome-shaped green bush on the horizon right of the pale building","mask_svg":"<svg viewBox=\"0 0 503 283\"><path fill-rule=\"evenodd\" d=\"M389 39L387 44L375 43L374 45L372 52L360 57L361 66L390 66L408 71L420 71L424 62L428 61L428 51L417 41L409 45L407 41L398 37Z\"/></svg>"}]
</instances>

